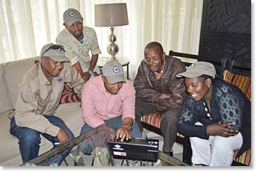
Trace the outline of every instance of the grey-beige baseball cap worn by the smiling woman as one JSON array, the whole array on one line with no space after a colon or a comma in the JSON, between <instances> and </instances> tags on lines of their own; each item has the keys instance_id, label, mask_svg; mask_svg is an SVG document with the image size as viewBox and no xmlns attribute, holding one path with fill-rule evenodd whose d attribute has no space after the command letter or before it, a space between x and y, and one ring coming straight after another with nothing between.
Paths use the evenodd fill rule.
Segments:
<instances>
[{"instance_id":1,"label":"grey-beige baseball cap worn by the smiling woman","mask_svg":"<svg viewBox=\"0 0 256 171\"><path fill-rule=\"evenodd\" d=\"M177 74L176 77L187 77L187 78L195 78L201 75L209 75L215 78L216 70L215 67L208 62L199 61L197 63L191 64L186 72L182 72L181 74Z\"/></svg>"}]
</instances>

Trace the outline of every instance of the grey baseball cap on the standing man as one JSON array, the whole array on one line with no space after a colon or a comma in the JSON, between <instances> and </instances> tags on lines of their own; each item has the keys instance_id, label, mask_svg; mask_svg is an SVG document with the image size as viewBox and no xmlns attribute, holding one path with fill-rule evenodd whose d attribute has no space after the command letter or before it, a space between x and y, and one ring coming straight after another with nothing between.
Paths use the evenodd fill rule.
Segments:
<instances>
[{"instance_id":1,"label":"grey baseball cap on the standing man","mask_svg":"<svg viewBox=\"0 0 256 171\"><path fill-rule=\"evenodd\" d=\"M69 8L63 13L63 22L71 26L73 22L83 22L83 18L78 10Z\"/></svg>"}]
</instances>

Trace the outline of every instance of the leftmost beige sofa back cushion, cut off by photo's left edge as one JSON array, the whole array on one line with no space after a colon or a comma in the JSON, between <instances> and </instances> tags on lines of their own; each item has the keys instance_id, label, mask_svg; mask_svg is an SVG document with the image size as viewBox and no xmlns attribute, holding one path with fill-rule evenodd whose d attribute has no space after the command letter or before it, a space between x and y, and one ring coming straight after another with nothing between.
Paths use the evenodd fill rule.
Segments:
<instances>
[{"instance_id":1,"label":"leftmost beige sofa back cushion, cut off by photo's left edge","mask_svg":"<svg viewBox=\"0 0 256 171\"><path fill-rule=\"evenodd\" d=\"M6 81L3 78L3 67L0 65L0 113L12 110L10 98L6 88Z\"/></svg>"}]
</instances>

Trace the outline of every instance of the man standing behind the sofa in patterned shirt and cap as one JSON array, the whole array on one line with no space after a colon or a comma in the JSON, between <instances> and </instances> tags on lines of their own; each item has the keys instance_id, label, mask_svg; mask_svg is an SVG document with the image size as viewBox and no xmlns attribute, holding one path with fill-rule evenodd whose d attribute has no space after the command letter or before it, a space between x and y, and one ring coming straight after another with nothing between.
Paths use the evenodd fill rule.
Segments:
<instances>
[{"instance_id":1,"label":"man standing behind the sofa in patterned shirt and cap","mask_svg":"<svg viewBox=\"0 0 256 171\"><path fill-rule=\"evenodd\" d=\"M56 42L64 47L70 64L86 82L94 72L100 72L96 67L98 54L101 53L96 32L90 27L83 26L82 15L73 8L63 13L63 25L65 29L57 35ZM92 55L91 60L89 51Z\"/></svg>"}]
</instances>

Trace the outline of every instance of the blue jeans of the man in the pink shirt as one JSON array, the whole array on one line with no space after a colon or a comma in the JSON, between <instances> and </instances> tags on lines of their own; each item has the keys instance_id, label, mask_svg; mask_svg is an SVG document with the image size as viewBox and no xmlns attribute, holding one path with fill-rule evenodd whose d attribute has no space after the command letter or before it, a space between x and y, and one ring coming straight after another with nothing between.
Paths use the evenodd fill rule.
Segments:
<instances>
[{"instance_id":1,"label":"blue jeans of the man in the pink shirt","mask_svg":"<svg viewBox=\"0 0 256 171\"><path fill-rule=\"evenodd\" d=\"M121 128L123 125L122 115L119 115L118 117L113 117L110 120L104 120L104 122L108 126L117 130ZM132 127L133 127L133 131L130 132L130 136L132 136L133 138L135 137L142 138L142 132L140 131L140 128L137 122L134 122ZM84 126L81 129L80 135L90 131L91 129L93 129L93 127L90 127L88 124L84 123Z\"/></svg>"}]
</instances>

